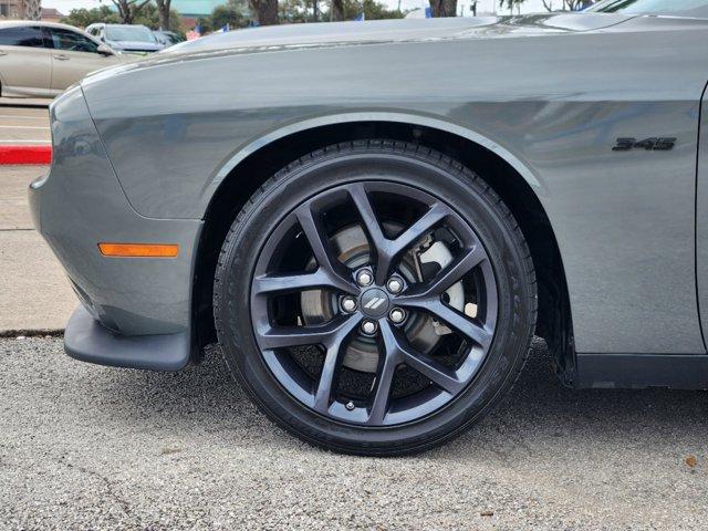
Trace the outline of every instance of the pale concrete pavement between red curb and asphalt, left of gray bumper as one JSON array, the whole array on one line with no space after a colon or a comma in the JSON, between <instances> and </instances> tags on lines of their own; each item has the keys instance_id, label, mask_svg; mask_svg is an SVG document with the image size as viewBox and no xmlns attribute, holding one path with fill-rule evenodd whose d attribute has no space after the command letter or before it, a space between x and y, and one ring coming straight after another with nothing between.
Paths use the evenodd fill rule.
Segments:
<instances>
[{"instance_id":1,"label":"pale concrete pavement between red curb and asphalt, left of gray bumper","mask_svg":"<svg viewBox=\"0 0 708 531\"><path fill-rule=\"evenodd\" d=\"M27 187L46 166L0 166L0 334L65 326L76 296L34 231Z\"/></svg>"}]
</instances>

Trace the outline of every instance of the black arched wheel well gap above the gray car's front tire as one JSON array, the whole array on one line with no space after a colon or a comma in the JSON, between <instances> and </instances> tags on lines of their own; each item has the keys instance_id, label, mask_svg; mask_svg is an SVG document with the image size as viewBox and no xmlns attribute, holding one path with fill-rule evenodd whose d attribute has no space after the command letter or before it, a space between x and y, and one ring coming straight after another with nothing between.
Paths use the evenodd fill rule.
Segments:
<instances>
[{"instance_id":1,"label":"black arched wheel well gap above the gray car's front tire","mask_svg":"<svg viewBox=\"0 0 708 531\"><path fill-rule=\"evenodd\" d=\"M546 341L559 374L571 384L575 363L565 273L555 235L538 197L513 167L489 149L444 131L402 123L345 123L295 133L254 152L231 170L209 204L199 243L194 288L199 346L216 341L214 274L226 233L248 198L292 160L326 145L366 138L415 142L437 149L475 170L501 197L519 222L533 258L539 280L537 335Z\"/></svg>"}]
</instances>

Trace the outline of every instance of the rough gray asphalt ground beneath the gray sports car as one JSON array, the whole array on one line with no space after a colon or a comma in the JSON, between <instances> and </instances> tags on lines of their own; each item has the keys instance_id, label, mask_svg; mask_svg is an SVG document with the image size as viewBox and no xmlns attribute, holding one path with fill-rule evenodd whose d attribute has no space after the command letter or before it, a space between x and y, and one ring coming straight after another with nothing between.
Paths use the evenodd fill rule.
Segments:
<instances>
[{"instance_id":1,"label":"rough gray asphalt ground beneath the gray sports car","mask_svg":"<svg viewBox=\"0 0 708 531\"><path fill-rule=\"evenodd\" d=\"M569 391L537 353L421 456L339 456L270 424L214 348L181 373L0 340L0 528L706 529L708 395Z\"/></svg>"}]
</instances>

